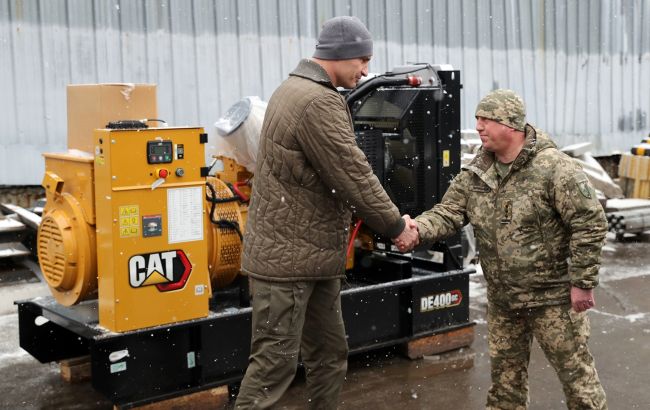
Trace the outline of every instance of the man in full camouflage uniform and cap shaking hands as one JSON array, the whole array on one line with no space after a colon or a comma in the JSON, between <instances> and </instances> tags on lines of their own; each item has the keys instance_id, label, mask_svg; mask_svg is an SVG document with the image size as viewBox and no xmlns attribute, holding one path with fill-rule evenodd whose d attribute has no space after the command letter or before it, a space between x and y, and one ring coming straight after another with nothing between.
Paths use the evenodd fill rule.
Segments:
<instances>
[{"instance_id":1,"label":"man in full camouflage uniform and cap shaking hands","mask_svg":"<svg viewBox=\"0 0 650 410\"><path fill-rule=\"evenodd\" d=\"M511 90L484 97L476 108L481 150L442 202L409 224L423 243L474 227L488 293L487 408L527 407L535 337L568 408L605 409L586 315L594 306L605 215L580 166L525 116ZM401 250L412 245L396 243Z\"/></svg>"}]
</instances>

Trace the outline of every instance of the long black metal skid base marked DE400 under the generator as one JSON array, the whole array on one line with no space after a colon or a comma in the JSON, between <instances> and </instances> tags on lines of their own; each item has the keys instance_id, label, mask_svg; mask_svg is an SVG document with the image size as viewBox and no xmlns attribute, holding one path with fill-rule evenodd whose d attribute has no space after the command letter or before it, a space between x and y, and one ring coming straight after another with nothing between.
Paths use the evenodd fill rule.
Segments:
<instances>
[{"instance_id":1,"label":"long black metal skid base marked DE400 under the generator","mask_svg":"<svg viewBox=\"0 0 650 410\"><path fill-rule=\"evenodd\" d=\"M401 255L360 262L341 292L351 353L473 325L472 270L436 272L433 262ZM122 408L235 384L251 337L251 308L239 293L215 292L206 318L125 333L99 327L97 301L17 301L20 346L42 363L89 355L93 387Z\"/></svg>"}]
</instances>

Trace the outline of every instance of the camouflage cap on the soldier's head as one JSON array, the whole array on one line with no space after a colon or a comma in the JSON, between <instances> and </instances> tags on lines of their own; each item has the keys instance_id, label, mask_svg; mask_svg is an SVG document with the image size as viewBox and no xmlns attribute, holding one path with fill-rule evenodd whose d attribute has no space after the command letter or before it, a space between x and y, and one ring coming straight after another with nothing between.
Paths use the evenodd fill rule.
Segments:
<instances>
[{"instance_id":1,"label":"camouflage cap on the soldier's head","mask_svg":"<svg viewBox=\"0 0 650 410\"><path fill-rule=\"evenodd\" d=\"M494 120L519 131L526 127L526 106L512 90L491 91L476 106L475 116Z\"/></svg>"}]
</instances>

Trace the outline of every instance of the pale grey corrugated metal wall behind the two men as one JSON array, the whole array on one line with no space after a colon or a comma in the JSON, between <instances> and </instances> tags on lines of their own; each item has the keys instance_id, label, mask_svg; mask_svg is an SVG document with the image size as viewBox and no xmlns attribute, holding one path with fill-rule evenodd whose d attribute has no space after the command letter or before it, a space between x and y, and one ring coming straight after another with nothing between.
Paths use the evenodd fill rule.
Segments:
<instances>
[{"instance_id":1,"label":"pale grey corrugated metal wall behind the two men","mask_svg":"<svg viewBox=\"0 0 650 410\"><path fill-rule=\"evenodd\" d=\"M39 184L40 153L65 149L67 84L156 83L161 117L211 129L341 14L373 33L373 72L460 69L463 128L509 87L561 145L627 151L650 130L646 0L0 0L0 185Z\"/></svg>"}]
</instances>

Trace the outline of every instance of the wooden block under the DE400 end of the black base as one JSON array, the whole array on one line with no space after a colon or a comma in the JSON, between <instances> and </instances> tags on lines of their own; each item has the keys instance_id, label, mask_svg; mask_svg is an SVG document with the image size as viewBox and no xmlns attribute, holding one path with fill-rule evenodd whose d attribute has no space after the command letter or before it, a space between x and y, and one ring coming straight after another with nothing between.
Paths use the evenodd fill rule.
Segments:
<instances>
[{"instance_id":1,"label":"wooden block under the DE400 end of the black base","mask_svg":"<svg viewBox=\"0 0 650 410\"><path fill-rule=\"evenodd\" d=\"M474 326L468 326L406 342L402 345L402 353L411 360L420 359L470 346L473 341Z\"/></svg>"}]
</instances>

